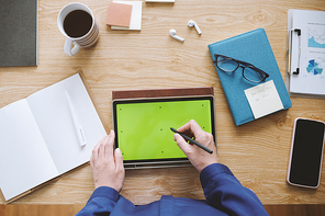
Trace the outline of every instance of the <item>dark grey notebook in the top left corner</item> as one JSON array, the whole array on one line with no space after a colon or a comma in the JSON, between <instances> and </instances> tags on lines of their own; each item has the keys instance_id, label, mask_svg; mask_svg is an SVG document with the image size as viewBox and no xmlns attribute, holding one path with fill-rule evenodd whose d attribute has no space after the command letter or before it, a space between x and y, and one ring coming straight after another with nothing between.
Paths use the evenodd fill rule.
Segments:
<instances>
[{"instance_id":1,"label":"dark grey notebook in the top left corner","mask_svg":"<svg viewBox=\"0 0 325 216\"><path fill-rule=\"evenodd\" d=\"M0 4L0 67L37 66L37 0Z\"/></svg>"}]
</instances>

